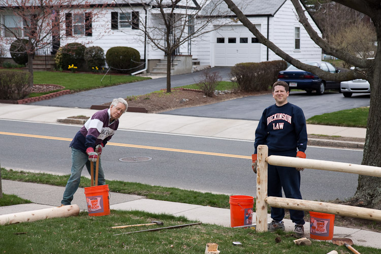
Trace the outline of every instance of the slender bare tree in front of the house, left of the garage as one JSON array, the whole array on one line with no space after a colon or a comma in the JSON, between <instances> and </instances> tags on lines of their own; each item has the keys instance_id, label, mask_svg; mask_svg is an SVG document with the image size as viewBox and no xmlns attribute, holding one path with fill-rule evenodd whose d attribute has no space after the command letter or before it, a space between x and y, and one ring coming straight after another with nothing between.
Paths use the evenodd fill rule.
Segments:
<instances>
[{"instance_id":1,"label":"slender bare tree in front of the house, left of the garage","mask_svg":"<svg viewBox=\"0 0 381 254\"><path fill-rule=\"evenodd\" d=\"M171 64L177 54L176 51L182 45L191 43L195 38L232 22L215 18L225 15L218 10L218 6L222 2L223 0L152 0L143 6L145 10L151 12L156 22L146 22L141 17L135 20L132 18L131 24L143 32L144 37L154 48L165 53L167 92L171 92ZM142 4L141 1L136 0L129 1L129 3L133 10L134 3ZM213 25L211 25L212 22Z\"/></svg>"}]
</instances>

